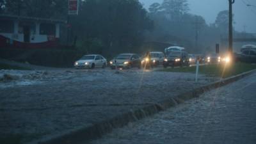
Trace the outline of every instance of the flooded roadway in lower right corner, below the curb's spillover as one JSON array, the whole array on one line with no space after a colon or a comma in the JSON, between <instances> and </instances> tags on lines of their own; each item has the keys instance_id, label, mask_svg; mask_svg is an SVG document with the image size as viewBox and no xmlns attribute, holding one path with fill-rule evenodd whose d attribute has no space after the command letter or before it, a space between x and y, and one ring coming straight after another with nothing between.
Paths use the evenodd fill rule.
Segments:
<instances>
[{"instance_id":1,"label":"flooded roadway in lower right corner, below the curb's spillover","mask_svg":"<svg viewBox=\"0 0 256 144\"><path fill-rule=\"evenodd\" d=\"M91 144L255 144L256 74L116 129Z\"/></svg>"}]
</instances>

